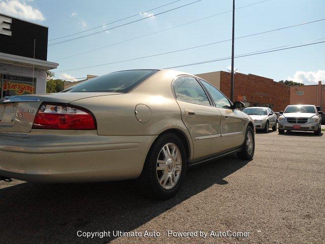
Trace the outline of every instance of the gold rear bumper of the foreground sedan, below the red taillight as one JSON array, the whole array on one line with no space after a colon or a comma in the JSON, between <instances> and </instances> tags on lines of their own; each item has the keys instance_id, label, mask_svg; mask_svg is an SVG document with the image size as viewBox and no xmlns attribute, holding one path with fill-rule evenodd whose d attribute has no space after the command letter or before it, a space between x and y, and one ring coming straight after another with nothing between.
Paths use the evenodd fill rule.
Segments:
<instances>
[{"instance_id":1,"label":"gold rear bumper of the foreground sedan, below the red taillight","mask_svg":"<svg viewBox=\"0 0 325 244\"><path fill-rule=\"evenodd\" d=\"M156 136L99 136L95 131L0 133L0 175L32 182L137 178Z\"/></svg>"}]
</instances>

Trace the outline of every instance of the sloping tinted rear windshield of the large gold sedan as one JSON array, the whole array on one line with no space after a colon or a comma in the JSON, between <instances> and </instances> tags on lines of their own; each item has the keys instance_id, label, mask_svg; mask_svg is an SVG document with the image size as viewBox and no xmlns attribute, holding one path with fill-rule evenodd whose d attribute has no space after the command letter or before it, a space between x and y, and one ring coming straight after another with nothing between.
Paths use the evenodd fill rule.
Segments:
<instances>
[{"instance_id":1,"label":"sloping tinted rear windshield of the large gold sedan","mask_svg":"<svg viewBox=\"0 0 325 244\"><path fill-rule=\"evenodd\" d=\"M63 91L69 93L127 93L159 70L124 70L101 75Z\"/></svg>"}]
</instances>

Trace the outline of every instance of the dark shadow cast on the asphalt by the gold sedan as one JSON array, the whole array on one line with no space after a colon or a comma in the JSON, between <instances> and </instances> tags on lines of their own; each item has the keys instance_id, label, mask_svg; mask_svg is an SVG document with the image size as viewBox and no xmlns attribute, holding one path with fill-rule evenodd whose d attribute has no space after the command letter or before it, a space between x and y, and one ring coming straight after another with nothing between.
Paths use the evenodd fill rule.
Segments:
<instances>
[{"instance_id":1,"label":"dark shadow cast on the asphalt by the gold sedan","mask_svg":"<svg viewBox=\"0 0 325 244\"><path fill-rule=\"evenodd\" d=\"M134 180L22 182L0 189L0 238L3 243L107 243L114 237L87 239L77 231L132 231L214 184L228 184L224 178L248 162L232 155L191 168L180 192L166 201L142 197Z\"/></svg>"}]
</instances>

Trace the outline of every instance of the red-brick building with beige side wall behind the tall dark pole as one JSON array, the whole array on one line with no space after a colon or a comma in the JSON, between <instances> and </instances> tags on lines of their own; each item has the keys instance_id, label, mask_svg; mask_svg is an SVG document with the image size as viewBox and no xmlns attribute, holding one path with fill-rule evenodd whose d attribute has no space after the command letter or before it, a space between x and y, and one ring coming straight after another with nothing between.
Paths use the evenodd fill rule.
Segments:
<instances>
[{"instance_id":1,"label":"red-brick building with beige side wall behind the tall dark pole","mask_svg":"<svg viewBox=\"0 0 325 244\"><path fill-rule=\"evenodd\" d=\"M197 74L230 98L231 73L217 71ZM270 107L274 111L284 110L290 104L290 87L273 79L236 73L234 76L234 100L244 102L246 107Z\"/></svg>"}]
</instances>

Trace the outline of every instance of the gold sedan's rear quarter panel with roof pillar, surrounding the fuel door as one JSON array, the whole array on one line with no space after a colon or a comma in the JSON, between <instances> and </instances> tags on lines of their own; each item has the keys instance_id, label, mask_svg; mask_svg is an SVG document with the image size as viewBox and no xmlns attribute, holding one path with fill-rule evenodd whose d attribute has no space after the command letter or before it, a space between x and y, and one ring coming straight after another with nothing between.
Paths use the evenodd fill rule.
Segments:
<instances>
[{"instance_id":1,"label":"gold sedan's rear quarter panel with roof pillar, surrounding the fuel door","mask_svg":"<svg viewBox=\"0 0 325 244\"><path fill-rule=\"evenodd\" d=\"M189 160L193 157L193 142L172 93L172 81L185 73L160 71L145 80L128 94L86 98L71 104L91 111L98 125L99 135L159 135L168 129L181 131L189 146ZM138 104L150 108L151 119L140 123L135 115Z\"/></svg>"}]
</instances>

